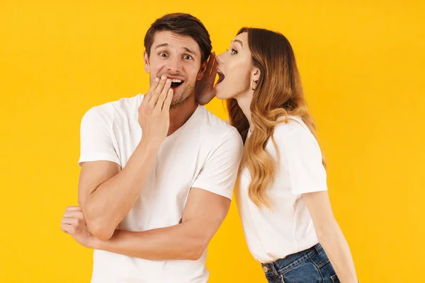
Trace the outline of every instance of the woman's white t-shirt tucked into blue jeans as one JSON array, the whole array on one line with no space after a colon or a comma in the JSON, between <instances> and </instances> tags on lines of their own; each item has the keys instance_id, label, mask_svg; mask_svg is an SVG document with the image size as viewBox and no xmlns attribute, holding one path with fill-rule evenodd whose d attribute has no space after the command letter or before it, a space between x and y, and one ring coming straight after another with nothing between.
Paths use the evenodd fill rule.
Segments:
<instances>
[{"instance_id":1,"label":"woman's white t-shirt tucked into blue jeans","mask_svg":"<svg viewBox=\"0 0 425 283\"><path fill-rule=\"evenodd\" d=\"M246 243L254 258L263 263L285 258L319 242L302 194L327 190L322 152L302 119L290 118L293 120L275 127L273 136L278 151L271 139L266 145L266 151L278 164L273 185L266 190L271 210L260 209L249 199L251 176L246 166L235 187Z\"/></svg>"}]
</instances>

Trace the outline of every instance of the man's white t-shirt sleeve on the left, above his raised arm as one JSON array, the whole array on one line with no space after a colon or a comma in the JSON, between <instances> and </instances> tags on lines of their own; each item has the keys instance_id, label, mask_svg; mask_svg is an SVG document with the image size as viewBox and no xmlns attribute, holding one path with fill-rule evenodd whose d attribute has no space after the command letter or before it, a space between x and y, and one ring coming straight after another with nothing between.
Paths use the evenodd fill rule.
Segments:
<instances>
[{"instance_id":1,"label":"man's white t-shirt sleeve on the left, above his raised arm","mask_svg":"<svg viewBox=\"0 0 425 283\"><path fill-rule=\"evenodd\" d=\"M91 108L81 119L79 166L86 161L112 161L121 164L108 125L96 108Z\"/></svg>"}]
</instances>

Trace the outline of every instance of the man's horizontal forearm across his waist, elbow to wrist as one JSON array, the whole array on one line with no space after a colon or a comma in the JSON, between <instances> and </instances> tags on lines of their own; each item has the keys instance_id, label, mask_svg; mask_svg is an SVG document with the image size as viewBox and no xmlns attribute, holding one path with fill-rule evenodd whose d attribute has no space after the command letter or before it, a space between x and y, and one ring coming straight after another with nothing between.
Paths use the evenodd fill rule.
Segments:
<instances>
[{"instance_id":1,"label":"man's horizontal forearm across his waist, elbow to wrist","mask_svg":"<svg viewBox=\"0 0 425 283\"><path fill-rule=\"evenodd\" d=\"M198 260L207 245L193 224L183 222L143 232L115 230L110 239L95 239L90 248L145 260Z\"/></svg>"}]
</instances>

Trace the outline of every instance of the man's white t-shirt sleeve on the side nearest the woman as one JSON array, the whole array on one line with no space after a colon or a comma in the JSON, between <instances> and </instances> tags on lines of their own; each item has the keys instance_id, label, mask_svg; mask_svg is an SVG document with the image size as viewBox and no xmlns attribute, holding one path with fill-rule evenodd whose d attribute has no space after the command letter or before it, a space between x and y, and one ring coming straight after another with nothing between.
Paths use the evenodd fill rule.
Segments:
<instances>
[{"instance_id":1,"label":"man's white t-shirt sleeve on the side nearest the woman","mask_svg":"<svg viewBox=\"0 0 425 283\"><path fill-rule=\"evenodd\" d=\"M232 200L243 148L241 136L237 129L232 128L207 159L192 187L208 190Z\"/></svg>"}]
</instances>

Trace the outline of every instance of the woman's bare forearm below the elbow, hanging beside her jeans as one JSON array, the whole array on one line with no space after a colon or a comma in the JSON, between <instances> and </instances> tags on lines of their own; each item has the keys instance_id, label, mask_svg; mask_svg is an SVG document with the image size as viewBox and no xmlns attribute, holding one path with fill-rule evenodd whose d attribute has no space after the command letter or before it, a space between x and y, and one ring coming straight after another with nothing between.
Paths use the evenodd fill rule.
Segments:
<instances>
[{"instance_id":1,"label":"woman's bare forearm below the elbow, hanging beside her jeans","mask_svg":"<svg viewBox=\"0 0 425 283\"><path fill-rule=\"evenodd\" d=\"M318 233L318 236L339 280L343 283L358 282L350 248L336 221L332 229L322 235Z\"/></svg>"}]
</instances>

